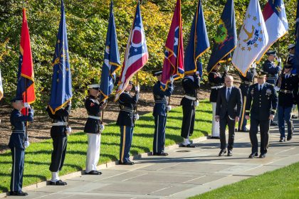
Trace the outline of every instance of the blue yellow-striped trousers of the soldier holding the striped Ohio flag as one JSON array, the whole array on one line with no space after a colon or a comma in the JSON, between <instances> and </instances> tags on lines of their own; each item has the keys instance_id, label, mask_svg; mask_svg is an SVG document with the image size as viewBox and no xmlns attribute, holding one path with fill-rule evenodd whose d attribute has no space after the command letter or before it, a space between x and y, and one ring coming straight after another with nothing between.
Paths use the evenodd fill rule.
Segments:
<instances>
[{"instance_id":1,"label":"blue yellow-striped trousers of the soldier holding the striped Ohio flag","mask_svg":"<svg viewBox=\"0 0 299 199\"><path fill-rule=\"evenodd\" d=\"M130 161L130 148L133 138L134 127L120 126L120 161Z\"/></svg>"}]
</instances>

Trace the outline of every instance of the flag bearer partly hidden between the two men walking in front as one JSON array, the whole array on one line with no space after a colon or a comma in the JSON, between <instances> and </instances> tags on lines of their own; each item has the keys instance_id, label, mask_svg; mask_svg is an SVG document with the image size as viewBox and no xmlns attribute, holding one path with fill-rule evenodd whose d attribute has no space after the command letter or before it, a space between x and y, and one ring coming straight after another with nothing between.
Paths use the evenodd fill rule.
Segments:
<instances>
[{"instance_id":1,"label":"flag bearer partly hidden between the two men walking in front","mask_svg":"<svg viewBox=\"0 0 299 199\"><path fill-rule=\"evenodd\" d=\"M246 128L247 125L247 119L245 118L245 107L246 107L246 101L247 101L247 92L249 87L253 84L254 76L256 75L256 64L253 63L251 65L251 68L246 72L246 77L244 77L241 73L239 73L239 76L241 78L241 84L240 89L242 93L242 102L243 107L241 111L241 117L240 121L238 122L238 131L248 132L249 130Z\"/></svg>"}]
</instances>

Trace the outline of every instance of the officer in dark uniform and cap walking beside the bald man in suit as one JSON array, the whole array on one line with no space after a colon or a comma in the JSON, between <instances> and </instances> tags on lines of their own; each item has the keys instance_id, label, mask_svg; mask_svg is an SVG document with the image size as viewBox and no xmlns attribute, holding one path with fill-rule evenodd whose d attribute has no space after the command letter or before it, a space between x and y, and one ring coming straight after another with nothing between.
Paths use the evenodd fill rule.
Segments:
<instances>
[{"instance_id":1,"label":"officer in dark uniform and cap walking beside the bald man in suit","mask_svg":"<svg viewBox=\"0 0 299 199\"><path fill-rule=\"evenodd\" d=\"M278 97L274 86L266 82L266 72L259 71L258 83L251 85L246 102L246 119L251 119L249 136L251 140L251 154L249 158L258 156L258 125L261 133L261 154L265 158L269 144L269 126L276 113ZM251 103L252 102L252 103Z\"/></svg>"}]
</instances>

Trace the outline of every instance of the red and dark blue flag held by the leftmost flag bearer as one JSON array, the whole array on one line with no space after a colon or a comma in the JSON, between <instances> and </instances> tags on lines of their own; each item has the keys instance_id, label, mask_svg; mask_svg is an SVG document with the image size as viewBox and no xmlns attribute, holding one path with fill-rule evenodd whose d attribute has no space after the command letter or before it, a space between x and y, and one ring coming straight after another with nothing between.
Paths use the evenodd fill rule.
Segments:
<instances>
[{"instance_id":1,"label":"red and dark blue flag held by the leftmost flag bearer","mask_svg":"<svg viewBox=\"0 0 299 199\"><path fill-rule=\"evenodd\" d=\"M27 102L28 104L36 101L36 93L34 91L33 61L26 9L23 9L16 98L23 99L23 102ZM22 113L25 114L25 109L22 110Z\"/></svg>"}]
</instances>

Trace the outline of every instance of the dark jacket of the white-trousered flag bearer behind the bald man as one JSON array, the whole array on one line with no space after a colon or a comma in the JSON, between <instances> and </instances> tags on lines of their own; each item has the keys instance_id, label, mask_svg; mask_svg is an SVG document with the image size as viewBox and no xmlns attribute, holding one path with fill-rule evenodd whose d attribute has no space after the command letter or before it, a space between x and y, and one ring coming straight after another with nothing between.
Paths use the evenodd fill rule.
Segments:
<instances>
[{"instance_id":1,"label":"dark jacket of the white-trousered flag bearer behind the bald man","mask_svg":"<svg viewBox=\"0 0 299 199\"><path fill-rule=\"evenodd\" d=\"M219 72L216 72L216 70L212 70L208 76L209 84L211 85L211 87L223 86L225 77L226 72L224 72L224 75L221 76ZM218 92L219 89L211 89L210 102L217 102Z\"/></svg>"}]
</instances>

